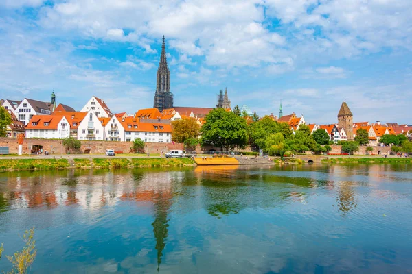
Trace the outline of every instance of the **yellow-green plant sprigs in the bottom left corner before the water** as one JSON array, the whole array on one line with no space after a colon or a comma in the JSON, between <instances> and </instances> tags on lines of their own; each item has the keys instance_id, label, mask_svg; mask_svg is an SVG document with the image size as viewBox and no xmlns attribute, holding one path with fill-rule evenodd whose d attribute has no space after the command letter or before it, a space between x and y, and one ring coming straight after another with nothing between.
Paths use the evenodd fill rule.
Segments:
<instances>
[{"instance_id":1,"label":"yellow-green plant sprigs in the bottom left corner before the water","mask_svg":"<svg viewBox=\"0 0 412 274\"><path fill-rule=\"evenodd\" d=\"M33 264L37 253L35 249L36 241L34 240L34 227L24 232L23 242L25 242L25 246L22 251L17 251L13 256L6 256L13 264L12 271L9 271L8 274L25 274L27 273L27 269ZM2 252L3 244L0 248L0 258Z\"/></svg>"}]
</instances>

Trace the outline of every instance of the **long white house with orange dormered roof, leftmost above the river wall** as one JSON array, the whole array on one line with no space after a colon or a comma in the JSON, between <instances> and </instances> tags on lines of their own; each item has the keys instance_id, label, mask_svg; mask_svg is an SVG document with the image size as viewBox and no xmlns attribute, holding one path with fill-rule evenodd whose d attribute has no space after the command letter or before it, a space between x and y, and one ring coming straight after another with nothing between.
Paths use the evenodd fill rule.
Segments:
<instances>
[{"instance_id":1,"label":"long white house with orange dormered roof, leftmost above the river wall","mask_svg":"<svg viewBox=\"0 0 412 274\"><path fill-rule=\"evenodd\" d=\"M26 138L64 139L70 136L69 121L60 115L34 115L25 130Z\"/></svg>"}]
</instances>

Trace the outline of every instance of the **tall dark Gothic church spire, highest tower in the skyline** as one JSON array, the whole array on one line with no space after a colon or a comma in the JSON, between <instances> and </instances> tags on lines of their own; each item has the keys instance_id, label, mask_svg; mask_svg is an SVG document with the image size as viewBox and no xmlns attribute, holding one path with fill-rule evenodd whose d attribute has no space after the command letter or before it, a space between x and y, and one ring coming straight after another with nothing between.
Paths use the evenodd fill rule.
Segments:
<instances>
[{"instance_id":1,"label":"tall dark Gothic church spire, highest tower in the skyline","mask_svg":"<svg viewBox=\"0 0 412 274\"><path fill-rule=\"evenodd\" d=\"M163 43L161 45L153 108L157 108L160 112L166 108L173 108L173 94L170 92L170 71L168 68L168 60L166 59L165 36L163 36Z\"/></svg>"}]
</instances>

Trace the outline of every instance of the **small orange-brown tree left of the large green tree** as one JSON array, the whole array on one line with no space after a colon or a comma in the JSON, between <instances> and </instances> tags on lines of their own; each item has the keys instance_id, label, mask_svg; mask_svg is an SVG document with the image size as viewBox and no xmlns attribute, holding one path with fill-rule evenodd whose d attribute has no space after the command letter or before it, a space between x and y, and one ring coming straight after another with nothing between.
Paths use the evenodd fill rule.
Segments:
<instances>
[{"instance_id":1,"label":"small orange-brown tree left of the large green tree","mask_svg":"<svg viewBox=\"0 0 412 274\"><path fill-rule=\"evenodd\" d=\"M187 118L172 121L172 140L184 143L190 138L198 138L200 127L195 119Z\"/></svg>"}]
</instances>

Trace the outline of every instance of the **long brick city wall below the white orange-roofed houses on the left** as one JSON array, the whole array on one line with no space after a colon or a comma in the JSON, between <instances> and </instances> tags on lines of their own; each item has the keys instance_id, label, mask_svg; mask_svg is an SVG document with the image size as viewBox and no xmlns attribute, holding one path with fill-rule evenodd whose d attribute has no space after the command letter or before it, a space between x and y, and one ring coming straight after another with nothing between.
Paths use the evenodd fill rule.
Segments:
<instances>
[{"instance_id":1,"label":"long brick city wall below the white orange-roofed houses on the left","mask_svg":"<svg viewBox=\"0 0 412 274\"><path fill-rule=\"evenodd\" d=\"M91 153L105 153L106 149L114 149L115 151L123 151L128 153L132 142L111 142L111 141L87 141L80 140L82 147L80 150L84 153L90 149ZM62 140L49 139L33 139L25 138L23 142L23 154L30 153L34 146L41 146L43 150L50 153L62 154L65 153L65 147L62 145ZM0 147L9 147L10 154L17 154L19 145L17 145L17 138L0 138ZM165 143L165 142L146 142L144 150L149 153L163 153L170 149L183 149L182 144Z\"/></svg>"}]
</instances>

